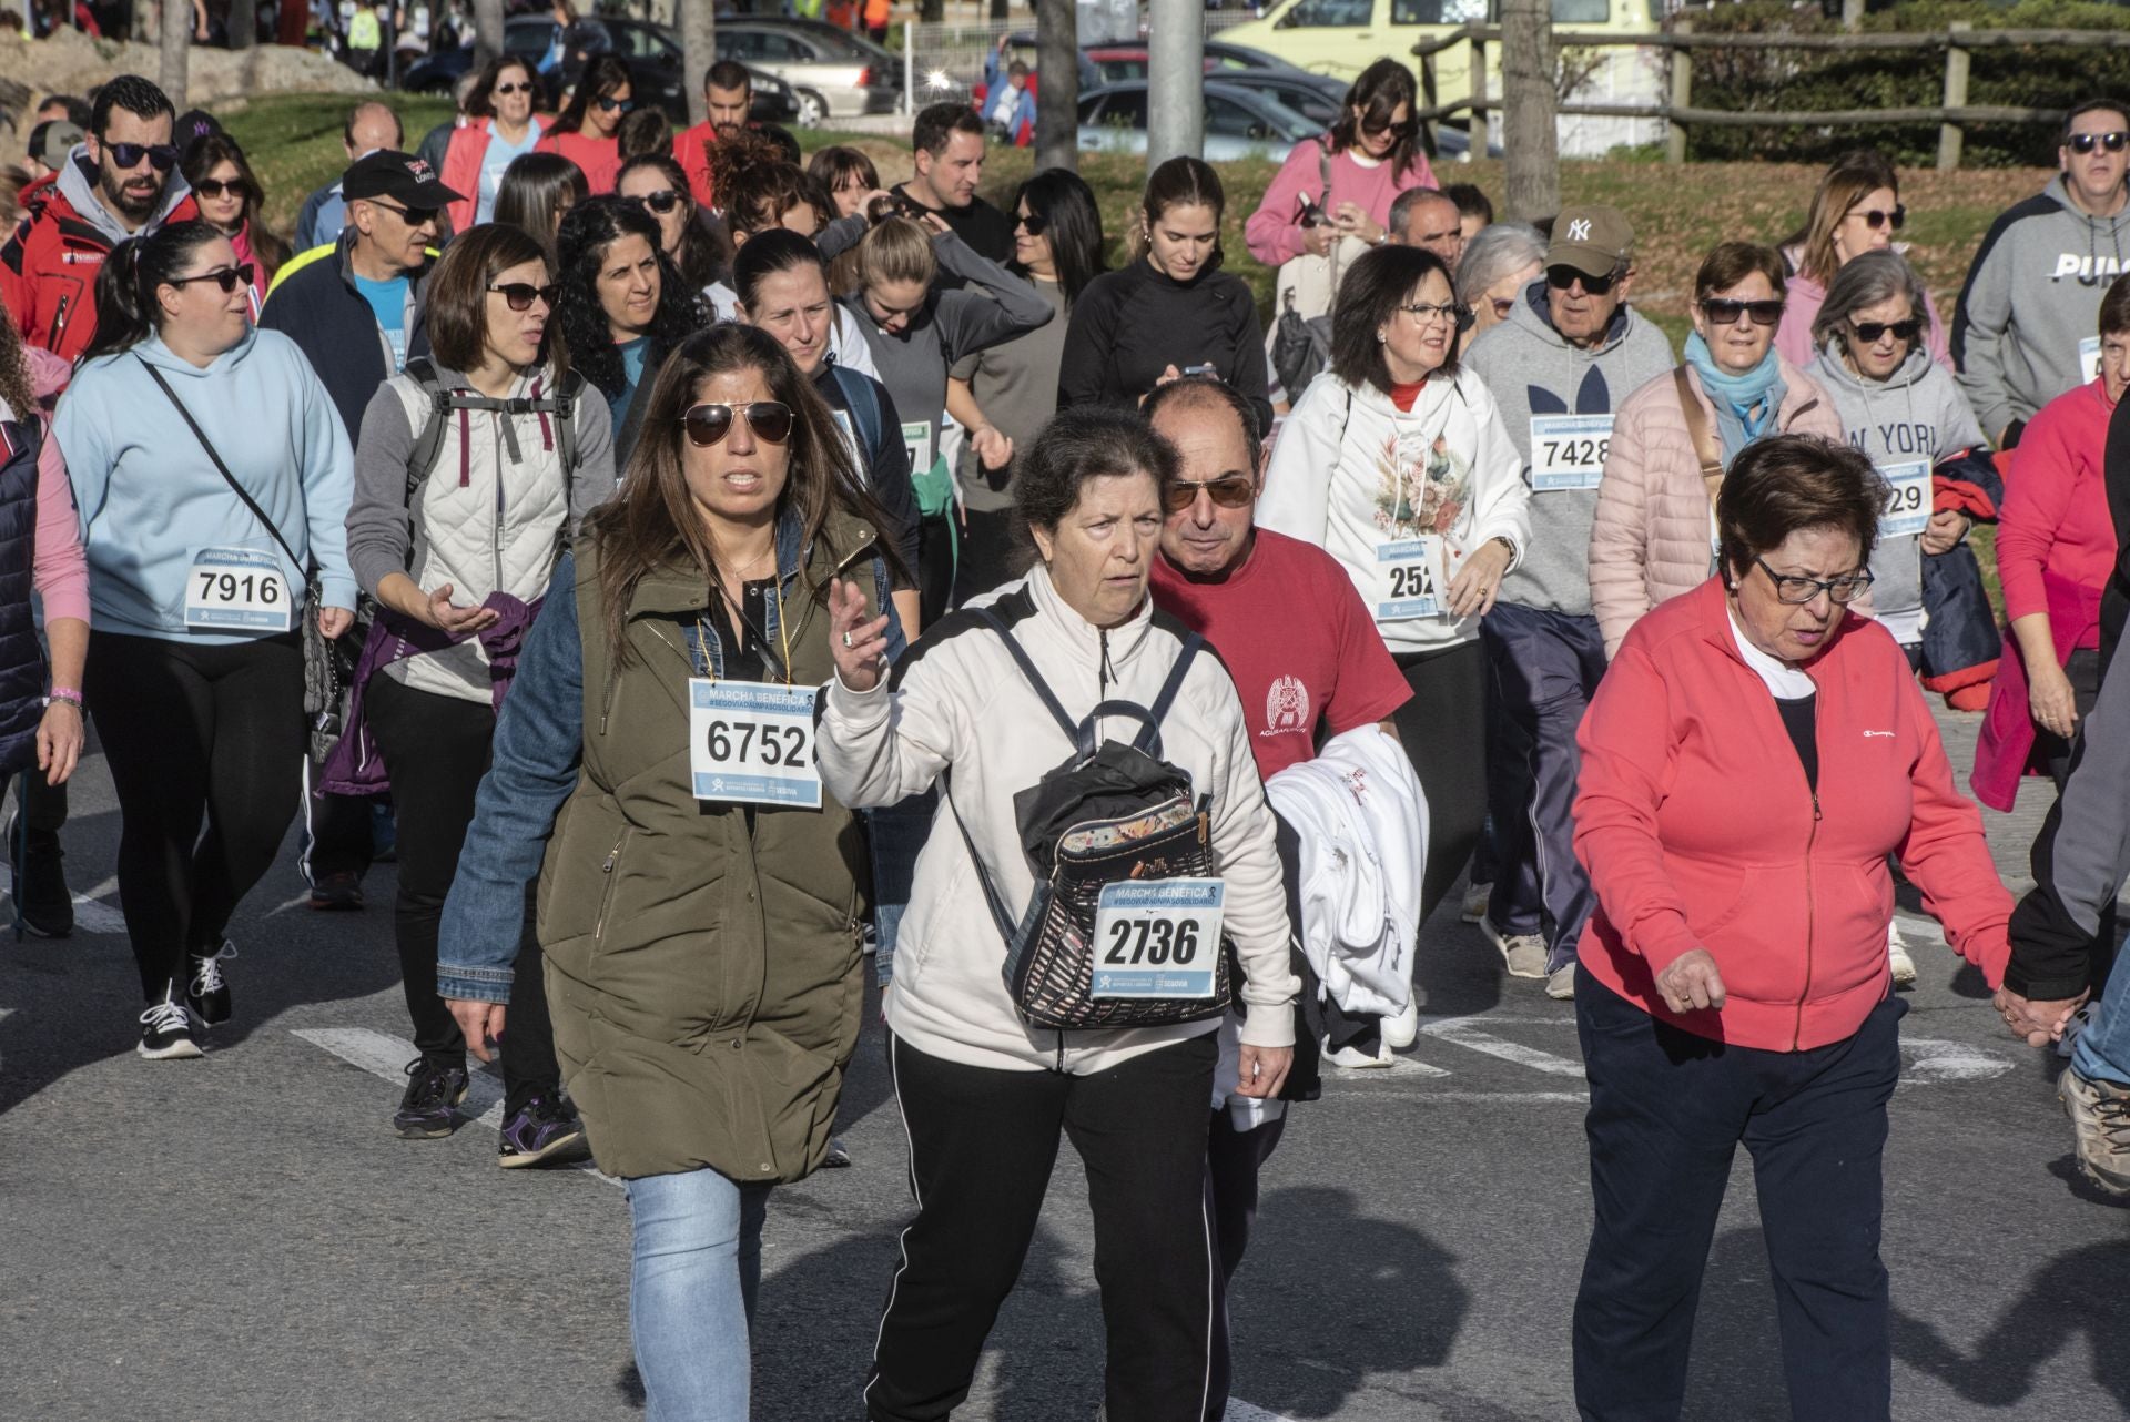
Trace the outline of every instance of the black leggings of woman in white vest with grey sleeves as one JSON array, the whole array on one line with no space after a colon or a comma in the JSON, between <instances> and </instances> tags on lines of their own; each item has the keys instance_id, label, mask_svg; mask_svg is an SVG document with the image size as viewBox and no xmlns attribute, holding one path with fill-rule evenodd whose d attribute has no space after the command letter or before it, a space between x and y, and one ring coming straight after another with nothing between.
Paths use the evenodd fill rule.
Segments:
<instances>
[{"instance_id":1,"label":"black leggings of woman in white vest with grey sleeves","mask_svg":"<svg viewBox=\"0 0 2130 1422\"><path fill-rule=\"evenodd\" d=\"M466 1037L437 996L437 930L443 924L443 898L458 873L458 851L473 824L473 796L488 775L496 713L488 702L420 692L377 673L364 690L364 720L377 737L377 754L392 777L392 805L398 811L394 937L413 1045L424 1058L456 1066L466 1060ZM537 1094L552 1096L562 1077L554 1060L554 1022L547 1018L547 983L541 975L528 894L503 1026L505 1115L515 1115Z\"/></svg>"}]
</instances>

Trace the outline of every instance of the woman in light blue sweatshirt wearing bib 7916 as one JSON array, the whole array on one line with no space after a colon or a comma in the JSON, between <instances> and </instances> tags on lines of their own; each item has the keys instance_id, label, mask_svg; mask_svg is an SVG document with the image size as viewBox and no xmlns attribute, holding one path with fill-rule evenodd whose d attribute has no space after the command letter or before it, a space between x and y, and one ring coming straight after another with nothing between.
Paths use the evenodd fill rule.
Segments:
<instances>
[{"instance_id":1,"label":"woman in light blue sweatshirt wearing bib 7916","mask_svg":"<svg viewBox=\"0 0 2130 1422\"><path fill-rule=\"evenodd\" d=\"M356 605L347 430L296 343L251 330L253 277L204 221L119 243L53 419L145 1058L200 1056L230 1015L224 930L302 792L302 619L341 636Z\"/></svg>"}]
</instances>

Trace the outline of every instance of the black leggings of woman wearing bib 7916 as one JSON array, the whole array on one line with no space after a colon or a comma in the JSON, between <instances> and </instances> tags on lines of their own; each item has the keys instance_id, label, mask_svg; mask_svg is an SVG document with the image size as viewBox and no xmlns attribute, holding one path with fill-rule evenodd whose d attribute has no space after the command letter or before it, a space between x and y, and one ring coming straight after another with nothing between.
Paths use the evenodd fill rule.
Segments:
<instances>
[{"instance_id":1,"label":"black leggings of woman wearing bib 7916","mask_svg":"<svg viewBox=\"0 0 2130 1422\"><path fill-rule=\"evenodd\" d=\"M302 641L92 632L85 681L119 796L119 909L153 1003L185 954L222 945L296 817Z\"/></svg>"}]
</instances>

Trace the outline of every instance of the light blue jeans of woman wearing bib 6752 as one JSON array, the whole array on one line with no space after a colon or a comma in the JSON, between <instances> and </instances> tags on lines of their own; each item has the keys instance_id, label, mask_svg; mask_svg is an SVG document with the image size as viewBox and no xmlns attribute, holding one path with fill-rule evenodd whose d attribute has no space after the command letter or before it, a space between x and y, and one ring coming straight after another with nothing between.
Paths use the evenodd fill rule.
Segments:
<instances>
[{"instance_id":1,"label":"light blue jeans of woman wearing bib 6752","mask_svg":"<svg viewBox=\"0 0 2130 1422\"><path fill-rule=\"evenodd\" d=\"M628 1181L628 1335L648 1422L748 1422L769 1186L716 1171Z\"/></svg>"}]
</instances>

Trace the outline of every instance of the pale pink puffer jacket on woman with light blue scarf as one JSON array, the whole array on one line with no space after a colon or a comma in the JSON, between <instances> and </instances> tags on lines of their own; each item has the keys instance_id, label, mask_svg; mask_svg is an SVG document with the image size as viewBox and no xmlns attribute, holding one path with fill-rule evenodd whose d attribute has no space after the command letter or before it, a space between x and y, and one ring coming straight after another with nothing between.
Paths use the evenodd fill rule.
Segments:
<instances>
[{"instance_id":1,"label":"pale pink puffer jacket on woman with light blue scarf","mask_svg":"<svg viewBox=\"0 0 2130 1422\"><path fill-rule=\"evenodd\" d=\"M1785 434L1819 434L1842 441L1834 400L1813 377L1781 360ZM1693 398L1717 434L1717 415L1702 394L1702 381L1687 370ZM1666 598L1676 598L1708 581L1715 519L1702 462L1693 453L1687 413L1678 407L1678 385L1666 370L1619 407L1612 449L1598 483L1598 517L1591 524L1591 611L1612 656L1636 619Z\"/></svg>"}]
</instances>

